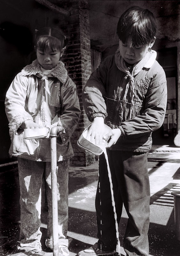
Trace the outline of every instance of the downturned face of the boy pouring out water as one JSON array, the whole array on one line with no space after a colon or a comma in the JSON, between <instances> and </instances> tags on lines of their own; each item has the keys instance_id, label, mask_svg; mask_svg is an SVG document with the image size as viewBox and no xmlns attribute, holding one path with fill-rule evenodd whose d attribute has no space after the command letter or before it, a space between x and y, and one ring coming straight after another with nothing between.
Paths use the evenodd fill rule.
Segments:
<instances>
[{"instance_id":1,"label":"downturned face of the boy pouring out water","mask_svg":"<svg viewBox=\"0 0 180 256\"><path fill-rule=\"evenodd\" d=\"M155 39L154 39L155 40ZM148 49L152 47L154 42L151 44L145 44L140 48L132 48L131 47L131 37L128 38L127 42L123 44L123 42L119 39L119 51L123 59L130 65L133 65L146 55Z\"/></svg>"}]
</instances>

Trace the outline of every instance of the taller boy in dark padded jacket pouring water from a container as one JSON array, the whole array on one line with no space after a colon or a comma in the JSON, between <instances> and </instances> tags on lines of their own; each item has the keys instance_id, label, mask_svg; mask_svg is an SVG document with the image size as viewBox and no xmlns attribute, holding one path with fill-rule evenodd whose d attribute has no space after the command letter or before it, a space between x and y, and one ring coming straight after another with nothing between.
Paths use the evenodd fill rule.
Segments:
<instances>
[{"instance_id":1,"label":"taller boy in dark padded jacket pouring water from a container","mask_svg":"<svg viewBox=\"0 0 180 256\"><path fill-rule=\"evenodd\" d=\"M163 124L167 85L164 70L151 49L156 21L152 12L132 6L117 25L119 47L91 74L82 93L83 105L92 122L87 135L96 144L107 143L117 222L122 207L128 214L124 235L127 256L148 256L150 186L147 154L151 133ZM104 123L112 128L107 136ZM80 256L112 255L117 237L107 164L99 157L99 182L95 198L98 242Z\"/></svg>"}]
</instances>

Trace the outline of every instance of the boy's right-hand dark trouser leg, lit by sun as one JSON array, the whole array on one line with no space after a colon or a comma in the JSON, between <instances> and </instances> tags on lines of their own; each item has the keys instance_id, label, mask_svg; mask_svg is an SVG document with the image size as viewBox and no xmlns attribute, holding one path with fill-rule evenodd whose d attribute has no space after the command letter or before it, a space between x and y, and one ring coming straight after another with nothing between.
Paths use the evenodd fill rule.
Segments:
<instances>
[{"instance_id":1,"label":"boy's right-hand dark trouser leg, lit by sun","mask_svg":"<svg viewBox=\"0 0 180 256\"><path fill-rule=\"evenodd\" d=\"M123 169L118 170L119 157L114 152L116 177L128 214L124 236L124 250L128 256L149 255L148 228L150 215L150 185L147 171L147 153L120 152ZM121 173L123 172L123 176Z\"/></svg>"}]
</instances>

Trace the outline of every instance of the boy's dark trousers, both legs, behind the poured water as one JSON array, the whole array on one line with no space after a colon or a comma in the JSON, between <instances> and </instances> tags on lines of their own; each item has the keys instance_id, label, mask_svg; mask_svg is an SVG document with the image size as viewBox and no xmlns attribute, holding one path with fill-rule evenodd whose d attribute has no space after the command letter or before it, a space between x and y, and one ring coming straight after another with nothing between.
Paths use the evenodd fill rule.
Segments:
<instances>
[{"instance_id":1,"label":"boy's dark trousers, both legs, behind the poured water","mask_svg":"<svg viewBox=\"0 0 180 256\"><path fill-rule=\"evenodd\" d=\"M150 186L147 153L107 150L107 154L118 224L123 204L129 217L124 235L124 250L128 256L148 256ZM115 250L117 244L115 218L104 154L99 157L99 181L95 207L99 248L107 251Z\"/></svg>"}]
</instances>

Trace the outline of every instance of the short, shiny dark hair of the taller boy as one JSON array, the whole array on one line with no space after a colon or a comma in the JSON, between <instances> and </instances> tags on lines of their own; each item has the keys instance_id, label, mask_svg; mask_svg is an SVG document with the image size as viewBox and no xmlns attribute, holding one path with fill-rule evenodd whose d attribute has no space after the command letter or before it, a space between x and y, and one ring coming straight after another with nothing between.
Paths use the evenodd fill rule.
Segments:
<instances>
[{"instance_id":1,"label":"short, shiny dark hair of the taller boy","mask_svg":"<svg viewBox=\"0 0 180 256\"><path fill-rule=\"evenodd\" d=\"M139 6L130 7L119 18L117 35L123 44L131 36L131 45L134 48L149 44L156 35L154 14Z\"/></svg>"}]
</instances>

